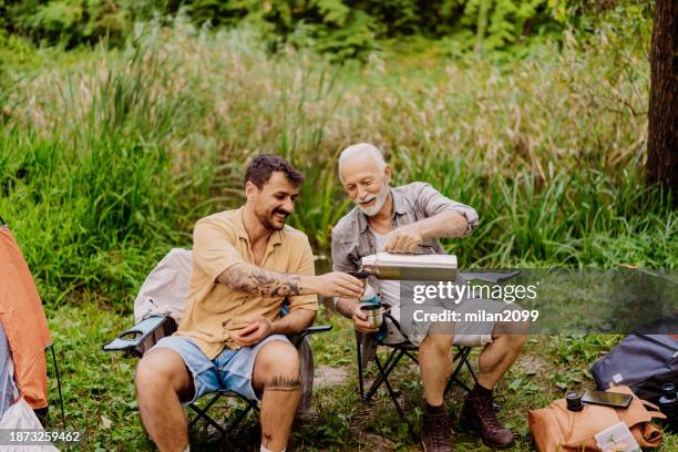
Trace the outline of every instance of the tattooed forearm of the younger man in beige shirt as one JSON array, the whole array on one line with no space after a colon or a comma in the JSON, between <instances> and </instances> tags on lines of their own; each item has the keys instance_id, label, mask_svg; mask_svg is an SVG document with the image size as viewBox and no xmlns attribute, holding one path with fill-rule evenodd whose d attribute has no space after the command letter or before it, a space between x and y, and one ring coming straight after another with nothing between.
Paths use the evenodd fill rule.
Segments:
<instances>
[{"instance_id":1,"label":"tattooed forearm of the younger man in beige shirt","mask_svg":"<svg viewBox=\"0 0 678 452\"><path fill-rule=\"evenodd\" d=\"M301 278L266 270L256 266L235 266L226 271L228 286L234 290L267 297L287 297L301 294Z\"/></svg>"}]
</instances>

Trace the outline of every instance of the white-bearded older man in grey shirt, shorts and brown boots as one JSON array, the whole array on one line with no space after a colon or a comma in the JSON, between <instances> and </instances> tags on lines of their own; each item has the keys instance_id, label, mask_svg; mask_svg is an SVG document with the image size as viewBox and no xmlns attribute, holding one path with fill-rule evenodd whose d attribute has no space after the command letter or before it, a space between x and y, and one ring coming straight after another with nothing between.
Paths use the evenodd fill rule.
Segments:
<instances>
[{"instance_id":1,"label":"white-bearded older man in grey shirt, shorts and brown boots","mask_svg":"<svg viewBox=\"0 0 678 452\"><path fill-rule=\"evenodd\" d=\"M431 185L415 182L390 187L391 168L379 148L356 144L339 157L339 177L356 207L332 230L332 259L337 271L356 271L366 255L378 250L390 253L443 254L440 237L463 237L477 226L475 210L441 195ZM401 304L400 281L370 278L382 304L398 312ZM483 300L484 308L501 311L505 304ZM352 318L359 332L373 332L359 309L356 298L337 300L337 309ZM483 326L480 326L483 328ZM419 366L424 390L423 438L429 452L450 451L450 423L443 404L443 392L452 371L452 346L484 346L480 355L477 384L468 396L461 412L462 424L477 431L491 446L508 446L512 432L496 419L493 390L517 358L525 342L522 326L487 323L479 331L475 325L453 325L446 330L408 339L419 345ZM408 332L405 332L408 333Z\"/></svg>"}]
</instances>

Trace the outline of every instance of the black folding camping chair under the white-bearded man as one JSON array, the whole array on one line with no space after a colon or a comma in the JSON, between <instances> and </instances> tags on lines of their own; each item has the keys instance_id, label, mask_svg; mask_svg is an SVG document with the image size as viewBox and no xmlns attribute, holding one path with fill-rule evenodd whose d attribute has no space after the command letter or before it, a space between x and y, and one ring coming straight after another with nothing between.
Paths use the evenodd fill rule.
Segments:
<instances>
[{"instance_id":1,"label":"black folding camping chair under the white-bearded man","mask_svg":"<svg viewBox=\"0 0 678 452\"><path fill-rule=\"evenodd\" d=\"M506 274L496 274L496 273L466 273L461 274L462 278L465 280L480 280L484 282L493 282L501 284L507 279L516 277L520 275L520 270L511 271ZM386 386L389 397L398 411L398 414L401 419L405 419L404 411L400 402L398 401L398 392L393 390L391 381L389 377L391 372L396 369L396 366L400 362L403 357L408 357L411 361L419 366L419 360L417 359L417 353L419 351L419 347L414 343L407 340L405 333L402 331L400 323L396 320L389 312L384 312L384 318L392 322L392 325L400 331L403 338L405 338L402 342L396 345L387 345L387 343L378 343L380 347L388 347L390 351L387 355L386 360L379 358L379 353L374 353L374 367L377 368L377 377L370 384L370 388L366 391L364 386L364 373L366 370L362 363L362 335L356 332L356 350L358 356L358 389L360 391L360 400L362 402L370 402L377 391L381 388L381 386ZM453 383L459 384L466 393L471 392L473 386L477 382L477 377L473 367L469 362L469 355L471 355L472 347L465 346L455 346L455 353L452 360L452 373L448 383L445 386L445 390L443 392L443 397L448 394L450 388L452 388ZM472 383L466 384L461 379L461 371L466 368L469 373L471 374ZM499 405L495 404L495 409L499 409Z\"/></svg>"}]
</instances>

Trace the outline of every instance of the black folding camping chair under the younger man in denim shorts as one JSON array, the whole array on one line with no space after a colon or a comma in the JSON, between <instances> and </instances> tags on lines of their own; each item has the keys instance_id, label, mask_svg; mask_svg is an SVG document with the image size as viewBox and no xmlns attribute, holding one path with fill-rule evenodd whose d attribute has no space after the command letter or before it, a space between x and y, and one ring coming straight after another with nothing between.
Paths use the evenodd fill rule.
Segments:
<instances>
[{"instance_id":1,"label":"black folding camping chair under the younger man in denim shorts","mask_svg":"<svg viewBox=\"0 0 678 452\"><path fill-rule=\"evenodd\" d=\"M164 338L165 336L171 336L174 331L176 331L176 321L170 316L150 316L103 346L103 350L109 352L122 351L141 358L160 339ZM309 335L329 331L330 329L332 329L331 326L308 327L300 335L296 335L289 339L295 347L300 348ZM312 359L310 366L312 371ZM257 402L246 399L237 392L226 390L213 392L212 394L207 394L205 397L208 398L208 401L204 408L201 408L197 403L188 404L188 408L194 411L193 418L191 418L188 421L188 429L193 429L198 421L203 420L205 421L205 429L207 429L208 425L216 429L216 431L219 433L220 440L227 441L230 445L234 445L237 449L245 449L238 443L236 433L243 421L250 412L259 411ZM222 398L235 398L236 400L245 403L245 409L237 412L230 422L224 424L219 424L208 414L209 409Z\"/></svg>"}]
</instances>

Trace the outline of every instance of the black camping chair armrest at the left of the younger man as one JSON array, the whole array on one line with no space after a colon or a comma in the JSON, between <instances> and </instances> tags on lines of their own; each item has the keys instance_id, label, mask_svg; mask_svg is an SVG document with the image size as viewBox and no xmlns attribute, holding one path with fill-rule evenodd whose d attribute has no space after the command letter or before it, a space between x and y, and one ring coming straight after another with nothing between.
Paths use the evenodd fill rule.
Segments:
<instances>
[{"instance_id":1,"label":"black camping chair armrest at the left of the younger man","mask_svg":"<svg viewBox=\"0 0 678 452\"><path fill-rule=\"evenodd\" d=\"M151 316L123 331L104 345L104 351L123 351L142 357L151 347L176 331L176 321L170 316Z\"/></svg>"}]
</instances>

